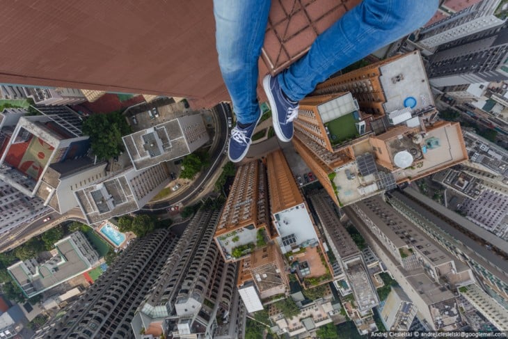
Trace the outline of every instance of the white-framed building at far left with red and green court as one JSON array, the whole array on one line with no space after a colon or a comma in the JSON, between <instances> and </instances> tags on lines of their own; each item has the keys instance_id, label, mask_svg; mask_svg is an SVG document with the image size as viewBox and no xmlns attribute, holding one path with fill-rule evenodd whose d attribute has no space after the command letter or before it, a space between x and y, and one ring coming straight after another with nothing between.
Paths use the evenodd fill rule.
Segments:
<instances>
[{"instance_id":1,"label":"white-framed building at far left with red and green court","mask_svg":"<svg viewBox=\"0 0 508 339\"><path fill-rule=\"evenodd\" d=\"M72 189L102 177L106 164L85 157L90 141L81 134L77 113L66 107L36 109L42 115L12 109L1 113L0 179L64 213L77 206Z\"/></svg>"}]
</instances>

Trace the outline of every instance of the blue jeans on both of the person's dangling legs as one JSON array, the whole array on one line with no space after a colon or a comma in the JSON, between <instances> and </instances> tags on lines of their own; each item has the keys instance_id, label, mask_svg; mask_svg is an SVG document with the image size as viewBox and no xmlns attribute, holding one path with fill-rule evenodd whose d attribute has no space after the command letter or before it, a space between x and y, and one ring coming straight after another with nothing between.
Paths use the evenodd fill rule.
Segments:
<instances>
[{"instance_id":1,"label":"blue jeans on both of the person's dangling legs","mask_svg":"<svg viewBox=\"0 0 508 339\"><path fill-rule=\"evenodd\" d=\"M270 5L270 0L214 0L219 65L237 120L244 124L260 115L257 62ZM333 73L423 26L437 8L438 0L363 0L278 74L280 86L299 101Z\"/></svg>"}]
</instances>

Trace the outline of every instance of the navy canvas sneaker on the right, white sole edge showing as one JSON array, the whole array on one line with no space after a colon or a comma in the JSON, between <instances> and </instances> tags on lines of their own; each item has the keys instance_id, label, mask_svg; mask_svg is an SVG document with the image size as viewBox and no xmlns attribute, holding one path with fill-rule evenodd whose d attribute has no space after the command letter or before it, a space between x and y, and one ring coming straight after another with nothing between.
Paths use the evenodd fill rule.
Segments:
<instances>
[{"instance_id":1,"label":"navy canvas sneaker on the right, white sole edge showing","mask_svg":"<svg viewBox=\"0 0 508 339\"><path fill-rule=\"evenodd\" d=\"M277 77L271 77L270 74L264 77L263 88L270 102L273 129L278 139L291 141L294 134L293 120L298 116L298 102L289 100L280 88Z\"/></svg>"}]
</instances>

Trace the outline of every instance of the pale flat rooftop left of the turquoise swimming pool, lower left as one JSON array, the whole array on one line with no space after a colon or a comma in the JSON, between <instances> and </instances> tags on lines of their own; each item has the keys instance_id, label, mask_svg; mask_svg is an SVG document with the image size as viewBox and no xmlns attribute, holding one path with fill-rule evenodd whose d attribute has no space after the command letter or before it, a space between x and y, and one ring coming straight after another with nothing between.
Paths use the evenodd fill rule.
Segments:
<instances>
[{"instance_id":1,"label":"pale flat rooftop left of the turquoise swimming pool, lower left","mask_svg":"<svg viewBox=\"0 0 508 339\"><path fill-rule=\"evenodd\" d=\"M90 269L70 242L70 237L62 239L55 246L56 253L51 259L41 264L35 262L35 275L35 272L30 272L31 269L26 269L25 262L17 262L8 267L10 274L29 297Z\"/></svg>"}]
</instances>

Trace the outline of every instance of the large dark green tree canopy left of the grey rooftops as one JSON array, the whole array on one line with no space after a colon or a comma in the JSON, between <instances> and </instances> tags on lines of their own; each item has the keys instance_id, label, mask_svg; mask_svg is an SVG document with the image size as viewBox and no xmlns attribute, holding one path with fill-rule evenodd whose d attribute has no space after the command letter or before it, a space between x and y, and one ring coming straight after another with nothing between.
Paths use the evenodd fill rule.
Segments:
<instances>
[{"instance_id":1,"label":"large dark green tree canopy left of the grey rooftops","mask_svg":"<svg viewBox=\"0 0 508 339\"><path fill-rule=\"evenodd\" d=\"M122 136L131 132L120 112L94 114L83 123L83 134L90 136L93 154L103 160L120 155L124 150Z\"/></svg>"}]
</instances>

